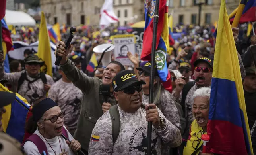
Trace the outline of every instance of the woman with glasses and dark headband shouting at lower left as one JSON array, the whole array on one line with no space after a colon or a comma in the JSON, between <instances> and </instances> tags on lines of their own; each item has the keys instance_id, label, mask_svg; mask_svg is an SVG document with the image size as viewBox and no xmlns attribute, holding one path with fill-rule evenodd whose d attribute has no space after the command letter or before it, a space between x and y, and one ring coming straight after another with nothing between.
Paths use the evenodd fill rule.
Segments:
<instances>
[{"instance_id":1,"label":"woman with glasses and dark headband shouting at lower left","mask_svg":"<svg viewBox=\"0 0 256 155\"><path fill-rule=\"evenodd\" d=\"M23 145L28 155L75 155L81 149L64 126L65 112L50 98L41 99L34 104L32 116L27 122L26 130L32 134ZM62 134L68 140L62 138Z\"/></svg>"}]
</instances>

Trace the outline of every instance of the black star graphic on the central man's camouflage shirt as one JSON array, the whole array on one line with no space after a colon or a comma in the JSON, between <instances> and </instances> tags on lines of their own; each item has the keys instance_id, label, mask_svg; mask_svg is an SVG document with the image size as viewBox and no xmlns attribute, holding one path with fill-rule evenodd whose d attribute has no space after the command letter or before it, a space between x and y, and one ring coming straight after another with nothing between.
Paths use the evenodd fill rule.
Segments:
<instances>
[{"instance_id":1,"label":"black star graphic on the central man's camouflage shirt","mask_svg":"<svg viewBox=\"0 0 256 155\"><path fill-rule=\"evenodd\" d=\"M147 155L147 136L142 132L142 142L140 146L133 147L134 149L137 149L138 151L144 152L145 155ZM155 144L157 143L157 137L152 140L151 145L151 155L157 155L157 151L155 150Z\"/></svg>"}]
</instances>

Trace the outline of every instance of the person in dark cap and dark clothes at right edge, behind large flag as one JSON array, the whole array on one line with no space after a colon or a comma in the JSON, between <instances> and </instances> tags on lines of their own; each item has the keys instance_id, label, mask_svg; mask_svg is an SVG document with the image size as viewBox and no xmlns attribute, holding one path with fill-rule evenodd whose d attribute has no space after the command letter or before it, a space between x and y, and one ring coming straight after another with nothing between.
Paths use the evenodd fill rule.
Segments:
<instances>
[{"instance_id":1,"label":"person in dark cap and dark clothes at right edge, behind large flag","mask_svg":"<svg viewBox=\"0 0 256 155\"><path fill-rule=\"evenodd\" d=\"M256 120L256 68L245 68L246 76L242 82L244 86L244 99L250 129Z\"/></svg>"}]
</instances>

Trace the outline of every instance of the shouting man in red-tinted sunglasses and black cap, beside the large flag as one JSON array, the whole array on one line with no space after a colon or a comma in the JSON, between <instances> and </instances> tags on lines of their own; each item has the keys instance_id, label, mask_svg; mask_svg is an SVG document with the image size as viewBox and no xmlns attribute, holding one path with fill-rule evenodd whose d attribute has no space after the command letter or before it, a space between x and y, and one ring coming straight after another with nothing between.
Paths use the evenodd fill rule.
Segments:
<instances>
[{"instance_id":1,"label":"shouting man in red-tinted sunglasses and black cap, beside the large flag","mask_svg":"<svg viewBox=\"0 0 256 155\"><path fill-rule=\"evenodd\" d=\"M242 79L245 77L245 69L242 64L241 56L239 56L239 64L241 70ZM210 87L211 86L211 77L213 71L213 60L208 57L202 57L194 62L194 79L195 82L188 82L182 78L179 78L175 81L176 89L173 94L175 98L180 102L182 108L185 112L185 118L187 119L187 129L189 129L190 124L194 120L192 114L192 100L191 97L194 94L194 91L200 87ZM225 67L225 66L223 66ZM187 130L188 131L188 130Z\"/></svg>"}]
</instances>

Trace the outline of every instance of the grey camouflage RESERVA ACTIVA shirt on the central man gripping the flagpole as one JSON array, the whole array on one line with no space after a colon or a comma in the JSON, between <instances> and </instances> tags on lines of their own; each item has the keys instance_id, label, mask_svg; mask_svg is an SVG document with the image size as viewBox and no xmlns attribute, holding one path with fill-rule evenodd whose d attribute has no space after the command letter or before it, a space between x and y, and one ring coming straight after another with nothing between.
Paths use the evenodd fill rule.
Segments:
<instances>
[{"instance_id":1,"label":"grey camouflage RESERVA ACTIVA shirt on the central man gripping the flagpole","mask_svg":"<svg viewBox=\"0 0 256 155\"><path fill-rule=\"evenodd\" d=\"M89 155L145 155L147 153L146 111L139 108L136 113L126 113L118 105L121 121L119 136L113 145L112 123L109 111L97 121L89 144ZM158 108L157 108L158 109ZM158 109L159 117L166 120L166 127L152 127L152 155L161 155L161 140L170 147L180 146L180 131L169 122Z\"/></svg>"}]
</instances>

